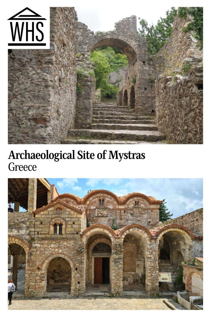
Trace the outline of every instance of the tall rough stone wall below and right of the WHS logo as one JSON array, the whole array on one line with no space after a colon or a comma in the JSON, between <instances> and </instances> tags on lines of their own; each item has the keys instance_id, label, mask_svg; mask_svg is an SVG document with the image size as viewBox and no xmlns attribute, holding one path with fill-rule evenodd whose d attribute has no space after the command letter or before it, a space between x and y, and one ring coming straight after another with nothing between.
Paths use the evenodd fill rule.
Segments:
<instances>
[{"instance_id":1,"label":"tall rough stone wall below and right of the WHS logo","mask_svg":"<svg viewBox=\"0 0 211 317\"><path fill-rule=\"evenodd\" d=\"M50 49L8 55L10 144L54 144L74 127L75 11L50 9Z\"/></svg>"}]
</instances>

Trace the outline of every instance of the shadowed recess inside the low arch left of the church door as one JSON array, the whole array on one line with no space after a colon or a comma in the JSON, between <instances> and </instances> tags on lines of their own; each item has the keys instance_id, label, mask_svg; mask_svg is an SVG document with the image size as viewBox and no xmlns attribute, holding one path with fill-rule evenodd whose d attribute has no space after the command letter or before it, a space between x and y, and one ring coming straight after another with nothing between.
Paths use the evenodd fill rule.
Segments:
<instances>
[{"instance_id":1,"label":"shadowed recess inside the low arch left of the church door","mask_svg":"<svg viewBox=\"0 0 211 317\"><path fill-rule=\"evenodd\" d=\"M70 263L63 257L54 257L47 267L47 293L71 292L72 270Z\"/></svg>"}]
</instances>

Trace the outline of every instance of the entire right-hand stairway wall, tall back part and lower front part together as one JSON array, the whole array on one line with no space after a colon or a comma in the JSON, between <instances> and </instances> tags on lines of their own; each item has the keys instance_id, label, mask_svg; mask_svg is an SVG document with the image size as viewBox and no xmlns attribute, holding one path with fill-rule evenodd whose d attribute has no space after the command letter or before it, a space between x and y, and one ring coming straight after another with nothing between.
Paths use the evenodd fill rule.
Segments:
<instances>
[{"instance_id":1,"label":"entire right-hand stairway wall, tall back part and lower front part together","mask_svg":"<svg viewBox=\"0 0 211 317\"><path fill-rule=\"evenodd\" d=\"M203 52L176 16L171 38L149 61L155 81L158 130L179 144L203 143Z\"/></svg>"}]
</instances>

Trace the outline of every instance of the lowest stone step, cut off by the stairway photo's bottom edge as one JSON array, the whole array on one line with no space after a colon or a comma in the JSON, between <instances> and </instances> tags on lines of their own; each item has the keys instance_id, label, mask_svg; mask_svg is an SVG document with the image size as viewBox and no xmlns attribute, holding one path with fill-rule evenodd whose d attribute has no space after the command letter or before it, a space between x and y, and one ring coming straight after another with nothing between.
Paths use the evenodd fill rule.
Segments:
<instances>
[{"instance_id":1,"label":"lowest stone step, cut off by the stairway photo's bottom edge","mask_svg":"<svg viewBox=\"0 0 211 317\"><path fill-rule=\"evenodd\" d=\"M118 141L118 140L103 140L103 139L77 139L67 138L62 140L62 144L160 144L158 142L145 142L145 141Z\"/></svg>"}]
</instances>

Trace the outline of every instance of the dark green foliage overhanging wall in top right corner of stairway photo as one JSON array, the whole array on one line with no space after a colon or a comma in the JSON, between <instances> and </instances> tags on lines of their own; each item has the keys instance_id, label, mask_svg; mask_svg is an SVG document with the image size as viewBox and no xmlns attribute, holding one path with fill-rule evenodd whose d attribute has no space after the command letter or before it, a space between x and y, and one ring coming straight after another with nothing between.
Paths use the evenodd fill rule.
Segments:
<instances>
[{"instance_id":1,"label":"dark green foliage overhanging wall in top right corner of stairway photo","mask_svg":"<svg viewBox=\"0 0 211 317\"><path fill-rule=\"evenodd\" d=\"M184 32L193 31L194 37L199 41L200 49L203 47L203 7L180 7L178 16L186 18L187 14L193 17L185 28Z\"/></svg>"}]
</instances>

